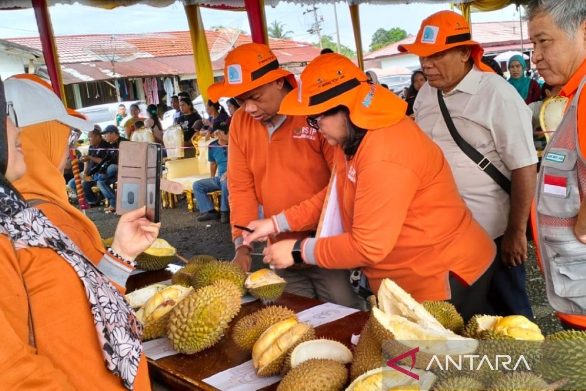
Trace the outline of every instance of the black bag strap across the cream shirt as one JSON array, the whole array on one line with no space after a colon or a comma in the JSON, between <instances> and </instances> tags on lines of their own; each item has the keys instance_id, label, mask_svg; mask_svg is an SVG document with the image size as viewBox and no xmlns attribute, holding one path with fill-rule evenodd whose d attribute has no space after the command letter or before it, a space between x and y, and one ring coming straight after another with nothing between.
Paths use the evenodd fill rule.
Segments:
<instances>
[{"instance_id":1,"label":"black bag strap across the cream shirt","mask_svg":"<svg viewBox=\"0 0 586 391\"><path fill-rule=\"evenodd\" d=\"M492 164L489 158L485 157L485 155L478 152L476 148L468 144L468 142L464 140L464 138L462 138L462 136L458 133L458 130L454 125L454 121L452 121L452 117L449 115L448 107L445 106L444 96L441 90L438 90L438 103L440 103L441 114L444 116L444 121L448 127L449 134L456 142L456 145L462 149L462 152L464 152L467 157L471 158L472 161L476 163L476 166L481 169L481 171L484 171L486 175L490 176L493 181L495 181L507 194L510 195L510 179L507 178L505 174L500 172L499 169L496 168L494 164Z\"/></svg>"}]
</instances>

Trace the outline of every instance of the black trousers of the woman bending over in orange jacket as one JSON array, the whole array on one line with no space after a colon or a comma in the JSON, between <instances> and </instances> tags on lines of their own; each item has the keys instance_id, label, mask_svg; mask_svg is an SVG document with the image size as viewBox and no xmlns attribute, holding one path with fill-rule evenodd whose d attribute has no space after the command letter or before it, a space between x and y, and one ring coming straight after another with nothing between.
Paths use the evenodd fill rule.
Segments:
<instances>
[{"instance_id":1,"label":"black trousers of the woman bending over in orange jacket","mask_svg":"<svg viewBox=\"0 0 586 391\"><path fill-rule=\"evenodd\" d=\"M452 298L448 301L454 304L456 310L464 318L464 322L468 322L476 314L485 313L490 281L495 273L495 264L496 261L493 261L484 274L472 285L466 285L450 274L449 289Z\"/></svg>"}]
</instances>

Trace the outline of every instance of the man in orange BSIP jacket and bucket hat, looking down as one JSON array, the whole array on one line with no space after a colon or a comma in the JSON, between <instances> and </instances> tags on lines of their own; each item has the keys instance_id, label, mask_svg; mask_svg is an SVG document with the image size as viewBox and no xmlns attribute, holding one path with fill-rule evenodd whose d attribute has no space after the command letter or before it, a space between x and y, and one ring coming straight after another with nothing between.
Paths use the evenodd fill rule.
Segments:
<instances>
[{"instance_id":1,"label":"man in orange BSIP jacket and bucket hat, looking down","mask_svg":"<svg viewBox=\"0 0 586 391\"><path fill-rule=\"evenodd\" d=\"M266 45L250 43L232 50L224 60L224 81L207 90L212 101L236 97L241 108L230 122L228 189L233 226L247 226L314 196L328 185L333 148L305 116L279 115L282 99L297 87L291 72L281 69ZM314 227L315 228L315 227ZM271 242L306 237L309 231L271 237ZM250 246L242 231L232 230L236 256L233 262L250 271ZM364 308L364 300L350 285L349 270L299 267L278 270L287 280L286 291L346 307Z\"/></svg>"}]
</instances>

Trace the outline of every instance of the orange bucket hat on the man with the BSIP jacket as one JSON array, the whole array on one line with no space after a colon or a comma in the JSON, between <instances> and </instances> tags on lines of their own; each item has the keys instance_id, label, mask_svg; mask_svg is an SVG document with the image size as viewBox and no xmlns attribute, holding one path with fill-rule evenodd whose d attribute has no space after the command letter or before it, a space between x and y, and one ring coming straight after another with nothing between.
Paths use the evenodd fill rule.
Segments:
<instances>
[{"instance_id":1,"label":"orange bucket hat on the man with the BSIP jacket","mask_svg":"<svg viewBox=\"0 0 586 391\"><path fill-rule=\"evenodd\" d=\"M297 86L294 74L281 68L270 47L247 43L228 53L224 80L209 86L207 95L217 102L221 97L237 97L281 77L287 78L292 87Z\"/></svg>"}]
</instances>

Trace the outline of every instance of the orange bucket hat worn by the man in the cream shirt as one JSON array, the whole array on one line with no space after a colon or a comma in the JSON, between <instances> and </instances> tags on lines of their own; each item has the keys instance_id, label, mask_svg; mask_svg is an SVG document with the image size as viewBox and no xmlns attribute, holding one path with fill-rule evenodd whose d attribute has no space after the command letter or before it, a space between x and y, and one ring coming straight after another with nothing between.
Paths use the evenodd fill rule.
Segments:
<instances>
[{"instance_id":1,"label":"orange bucket hat worn by the man in the cream shirt","mask_svg":"<svg viewBox=\"0 0 586 391\"><path fill-rule=\"evenodd\" d=\"M428 57L452 47L472 46L472 59L485 72L494 72L482 63L484 49L472 40L470 25L462 15L452 11L440 11L421 22L414 43L399 45L399 52L409 52L419 57Z\"/></svg>"}]
</instances>

